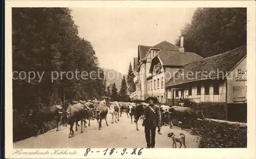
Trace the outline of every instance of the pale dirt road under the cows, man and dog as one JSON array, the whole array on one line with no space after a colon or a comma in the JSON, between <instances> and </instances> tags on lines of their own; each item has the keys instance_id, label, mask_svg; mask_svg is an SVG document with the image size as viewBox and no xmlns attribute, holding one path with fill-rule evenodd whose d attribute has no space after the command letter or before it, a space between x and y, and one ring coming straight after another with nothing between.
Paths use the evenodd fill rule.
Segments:
<instances>
[{"instance_id":1,"label":"pale dirt road under the cows, man and dog","mask_svg":"<svg viewBox=\"0 0 256 159\"><path fill-rule=\"evenodd\" d=\"M91 121L91 126L84 129L80 133L81 127L75 131L75 137L68 138L69 126L60 127L60 131L56 129L50 130L37 137L31 137L23 141L13 143L14 148L134 148L146 147L144 127L139 125L139 131L135 129L135 123L131 123L131 119L125 114L120 118L118 123L111 124L111 116L108 115L110 126L106 126L102 121L102 129L98 130L96 120ZM140 123L140 121L139 121ZM79 122L80 124L80 122ZM75 128L74 128L75 130ZM186 136L187 148L197 148L199 138L191 135L188 131L181 130L178 127L170 129L168 126L162 127L162 134L156 134L156 148L171 148L172 141L167 137L167 133L174 132L184 133ZM179 144L177 145L179 146Z\"/></svg>"}]
</instances>

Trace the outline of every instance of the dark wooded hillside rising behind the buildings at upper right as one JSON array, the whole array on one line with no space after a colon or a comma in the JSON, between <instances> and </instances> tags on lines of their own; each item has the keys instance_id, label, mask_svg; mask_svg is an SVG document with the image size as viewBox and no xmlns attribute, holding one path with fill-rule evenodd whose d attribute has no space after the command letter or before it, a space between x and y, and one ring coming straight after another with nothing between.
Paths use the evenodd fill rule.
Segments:
<instances>
[{"instance_id":1,"label":"dark wooded hillside rising behind the buildings at upper right","mask_svg":"<svg viewBox=\"0 0 256 159\"><path fill-rule=\"evenodd\" d=\"M176 39L184 37L185 51L208 57L238 48L247 40L246 8L198 8L190 24Z\"/></svg>"}]
</instances>

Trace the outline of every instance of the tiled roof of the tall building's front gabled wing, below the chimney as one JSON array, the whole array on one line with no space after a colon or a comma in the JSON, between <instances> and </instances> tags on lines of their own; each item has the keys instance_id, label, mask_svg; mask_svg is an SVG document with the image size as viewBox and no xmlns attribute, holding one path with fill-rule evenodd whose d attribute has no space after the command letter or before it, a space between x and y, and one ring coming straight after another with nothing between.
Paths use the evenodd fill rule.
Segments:
<instances>
[{"instance_id":1,"label":"tiled roof of the tall building's front gabled wing, below the chimney","mask_svg":"<svg viewBox=\"0 0 256 159\"><path fill-rule=\"evenodd\" d=\"M179 52L172 50L161 50L158 53L159 59L162 61L162 65L175 65L183 66L189 62L202 59L202 57L193 52Z\"/></svg>"}]
</instances>

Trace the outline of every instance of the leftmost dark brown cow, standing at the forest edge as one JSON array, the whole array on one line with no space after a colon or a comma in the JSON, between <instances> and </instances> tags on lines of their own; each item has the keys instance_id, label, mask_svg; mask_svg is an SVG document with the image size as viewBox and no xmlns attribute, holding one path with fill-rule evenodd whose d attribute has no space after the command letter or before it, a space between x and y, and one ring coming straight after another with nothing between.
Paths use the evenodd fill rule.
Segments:
<instances>
[{"instance_id":1,"label":"leftmost dark brown cow, standing at the forest edge","mask_svg":"<svg viewBox=\"0 0 256 159\"><path fill-rule=\"evenodd\" d=\"M38 128L37 134L39 134L40 130L42 130L42 133L44 133L44 122L49 122L55 119L57 117L57 129L56 131L59 131L59 122L60 117L62 114L63 108L61 105L54 105L48 108L44 109L38 109L35 111L31 111L29 114L29 119L32 120L33 123Z\"/></svg>"}]
</instances>

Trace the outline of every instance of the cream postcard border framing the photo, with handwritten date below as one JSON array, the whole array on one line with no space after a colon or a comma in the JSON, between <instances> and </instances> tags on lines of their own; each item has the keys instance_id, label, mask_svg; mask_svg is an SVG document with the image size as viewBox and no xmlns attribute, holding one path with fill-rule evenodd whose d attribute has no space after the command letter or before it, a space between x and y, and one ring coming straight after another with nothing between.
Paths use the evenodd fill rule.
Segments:
<instances>
[{"instance_id":1,"label":"cream postcard border framing the photo, with handwritten date below","mask_svg":"<svg viewBox=\"0 0 256 159\"><path fill-rule=\"evenodd\" d=\"M5 2L5 156L6 158L255 158L255 2L254 1L6 1ZM13 155L12 143L12 7L131 7L131 8L194 8L194 7L247 7L247 148L187 148L143 149L141 155L120 153L84 156L86 149L76 150L77 155ZM111 148L110 148L111 149ZM138 147L138 149L140 149ZM37 149L23 149L35 151ZM39 151L53 149L39 149ZM63 149L66 150L66 149ZM95 149L97 150L97 149ZM98 149L100 151L104 149ZM117 149L121 152L122 149ZM132 149L127 149L131 152Z\"/></svg>"}]
</instances>

